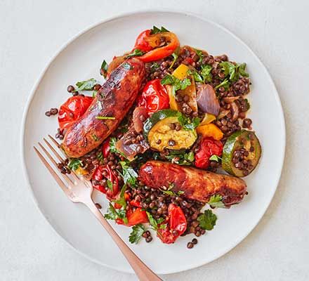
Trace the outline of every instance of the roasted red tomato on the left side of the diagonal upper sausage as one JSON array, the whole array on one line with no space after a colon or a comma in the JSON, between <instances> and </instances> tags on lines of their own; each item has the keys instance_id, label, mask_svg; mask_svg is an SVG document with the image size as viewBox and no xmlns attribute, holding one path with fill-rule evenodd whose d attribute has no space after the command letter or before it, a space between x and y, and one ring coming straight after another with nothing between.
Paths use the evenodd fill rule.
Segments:
<instances>
[{"instance_id":1,"label":"roasted red tomato on the left side of the diagonal upper sausage","mask_svg":"<svg viewBox=\"0 0 309 281\"><path fill-rule=\"evenodd\" d=\"M67 129L72 122L84 115L93 101L89 96L72 96L60 106L58 122L60 129Z\"/></svg>"}]
</instances>

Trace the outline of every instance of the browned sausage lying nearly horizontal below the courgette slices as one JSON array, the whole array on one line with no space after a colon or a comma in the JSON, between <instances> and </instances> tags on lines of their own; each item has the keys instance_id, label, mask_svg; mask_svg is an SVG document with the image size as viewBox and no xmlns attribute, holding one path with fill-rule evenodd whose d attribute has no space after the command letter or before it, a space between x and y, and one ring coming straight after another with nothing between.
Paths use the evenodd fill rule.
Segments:
<instances>
[{"instance_id":1,"label":"browned sausage lying nearly horizontal below the courgette slices","mask_svg":"<svg viewBox=\"0 0 309 281\"><path fill-rule=\"evenodd\" d=\"M246 183L241 178L170 162L146 162L140 167L139 179L150 188L173 184L174 192L181 190L186 198L204 203L212 195L221 195L225 207L241 202L246 194Z\"/></svg>"}]
</instances>

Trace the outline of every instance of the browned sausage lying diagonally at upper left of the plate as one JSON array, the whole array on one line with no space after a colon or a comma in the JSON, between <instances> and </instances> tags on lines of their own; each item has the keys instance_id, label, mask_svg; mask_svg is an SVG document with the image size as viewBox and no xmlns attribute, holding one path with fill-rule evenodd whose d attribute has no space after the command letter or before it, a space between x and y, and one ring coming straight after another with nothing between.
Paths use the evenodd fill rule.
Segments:
<instances>
[{"instance_id":1,"label":"browned sausage lying diagonally at upper left of the plate","mask_svg":"<svg viewBox=\"0 0 309 281\"><path fill-rule=\"evenodd\" d=\"M110 74L88 110L67 129L62 143L67 156L85 155L117 129L133 105L144 78L145 65L137 58L126 60Z\"/></svg>"}]
</instances>

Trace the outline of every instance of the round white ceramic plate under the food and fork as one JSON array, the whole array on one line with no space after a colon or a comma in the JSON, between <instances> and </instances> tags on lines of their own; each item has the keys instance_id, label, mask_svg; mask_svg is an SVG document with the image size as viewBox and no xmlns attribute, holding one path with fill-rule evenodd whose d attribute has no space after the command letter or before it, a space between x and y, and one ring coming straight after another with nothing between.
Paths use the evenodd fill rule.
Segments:
<instances>
[{"instance_id":1,"label":"round white ceramic plate under the food and fork","mask_svg":"<svg viewBox=\"0 0 309 281\"><path fill-rule=\"evenodd\" d=\"M57 118L44 116L68 97L67 85L99 75L103 59L110 61L132 48L136 36L152 25L164 26L178 35L180 44L203 48L214 55L226 53L237 62L246 62L251 74L249 117L261 140L261 162L246 178L249 195L231 209L218 209L216 227L199 238L194 249L186 248L192 236L180 237L176 244L162 244L158 239L138 245L128 241L130 229L114 226L145 263L156 273L176 273L202 266L230 251L256 226L272 200L280 178L285 148L284 117L280 98L270 75L254 53L223 27L187 13L149 11L112 18L74 37L51 60L32 91L23 120L22 161L34 200L51 226L79 253L88 259L117 270L132 272L120 251L81 204L70 203L46 168L39 162L32 146L48 133L55 133ZM103 195L96 202L106 206ZM104 210L103 210L104 211ZM114 225L114 223L112 223ZM177 259L175 258L177 257Z\"/></svg>"}]
</instances>

